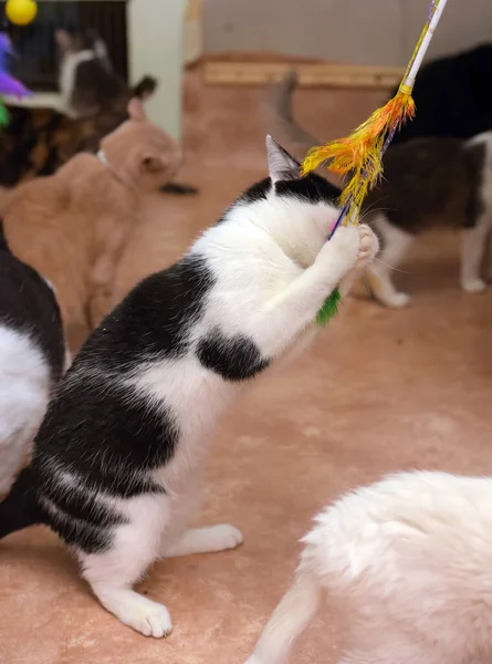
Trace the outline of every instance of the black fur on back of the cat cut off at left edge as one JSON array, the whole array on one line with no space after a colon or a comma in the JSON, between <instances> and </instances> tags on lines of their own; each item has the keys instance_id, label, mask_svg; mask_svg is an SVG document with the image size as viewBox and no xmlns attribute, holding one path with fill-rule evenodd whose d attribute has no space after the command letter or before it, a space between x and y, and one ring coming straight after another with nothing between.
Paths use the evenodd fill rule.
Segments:
<instances>
[{"instance_id":1,"label":"black fur on back of the cat cut off at left edge","mask_svg":"<svg viewBox=\"0 0 492 664\"><path fill-rule=\"evenodd\" d=\"M65 342L56 298L44 279L9 250L0 221L0 325L29 336L43 354L53 383L62 373Z\"/></svg>"}]
</instances>

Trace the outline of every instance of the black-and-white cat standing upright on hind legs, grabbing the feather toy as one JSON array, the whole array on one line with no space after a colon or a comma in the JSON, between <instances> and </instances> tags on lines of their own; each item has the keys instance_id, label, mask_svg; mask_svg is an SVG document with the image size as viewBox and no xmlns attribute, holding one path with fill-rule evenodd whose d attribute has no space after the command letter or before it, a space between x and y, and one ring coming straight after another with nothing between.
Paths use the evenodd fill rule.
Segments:
<instances>
[{"instance_id":1,"label":"black-and-white cat standing upright on hind legs, grabbing the feather toy","mask_svg":"<svg viewBox=\"0 0 492 664\"><path fill-rule=\"evenodd\" d=\"M0 537L46 523L73 550L101 603L155 637L167 609L132 590L159 557L222 551L232 526L189 528L214 424L247 383L296 354L337 284L378 242L360 226L326 242L337 189L268 138L253 185L181 260L150 276L76 356L0 505Z\"/></svg>"}]
</instances>

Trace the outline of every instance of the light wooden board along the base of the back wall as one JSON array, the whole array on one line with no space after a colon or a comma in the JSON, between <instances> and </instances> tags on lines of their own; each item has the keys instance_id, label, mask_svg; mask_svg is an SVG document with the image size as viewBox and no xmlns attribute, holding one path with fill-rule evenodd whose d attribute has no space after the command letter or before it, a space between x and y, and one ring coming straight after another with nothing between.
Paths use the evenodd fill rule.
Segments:
<instances>
[{"instance_id":1,"label":"light wooden board along the base of the back wall","mask_svg":"<svg viewBox=\"0 0 492 664\"><path fill-rule=\"evenodd\" d=\"M404 70L390 66L290 62L220 62L205 63L208 85L268 85L295 70L302 86L392 87Z\"/></svg>"}]
</instances>

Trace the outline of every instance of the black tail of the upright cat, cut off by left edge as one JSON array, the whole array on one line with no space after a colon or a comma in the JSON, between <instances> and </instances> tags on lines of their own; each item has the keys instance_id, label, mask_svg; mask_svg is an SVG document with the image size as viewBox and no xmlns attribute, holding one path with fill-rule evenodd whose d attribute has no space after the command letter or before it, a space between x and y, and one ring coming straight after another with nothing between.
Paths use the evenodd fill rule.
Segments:
<instances>
[{"instance_id":1,"label":"black tail of the upright cat, cut off by left edge","mask_svg":"<svg viewBox=\"0 0 492 664\"><path fill-rule=\"evenodd\" d=\"M32 469L28 466L0 502L0 539L36 523L44 523L44 517L35 496Z\"/></svg>"}]
</instances>

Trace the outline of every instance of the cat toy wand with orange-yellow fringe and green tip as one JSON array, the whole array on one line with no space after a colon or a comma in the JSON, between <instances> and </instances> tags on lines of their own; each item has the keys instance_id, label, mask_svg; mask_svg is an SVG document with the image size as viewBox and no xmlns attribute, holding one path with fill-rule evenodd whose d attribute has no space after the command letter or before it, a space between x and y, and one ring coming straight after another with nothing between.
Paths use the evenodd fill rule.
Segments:
<instances>
[{"instance_id":1,"label":"cat toy wand with orange-yellow fringe and green tip","mask_svg":"<svg viewBox=\"0 0 492 664\"><path fill-rule=\"evenodd\" d=\"M447 2L448 0L431 0L426 25L397 94L385 106L377 108L349 136L310 149L302 164L303 175L326 162L328 163L326 168L331 173L350 174L350 179L339 197L341 211L329 232L328 240L338 226L358 222L362 204L383 174L383 155L395 133L415 115L415 102L411 96L415 80ZM339 290L335 289L317 313L318 325L326 325L337 313L341 299Z\"/></svg>"}]
</instances>

